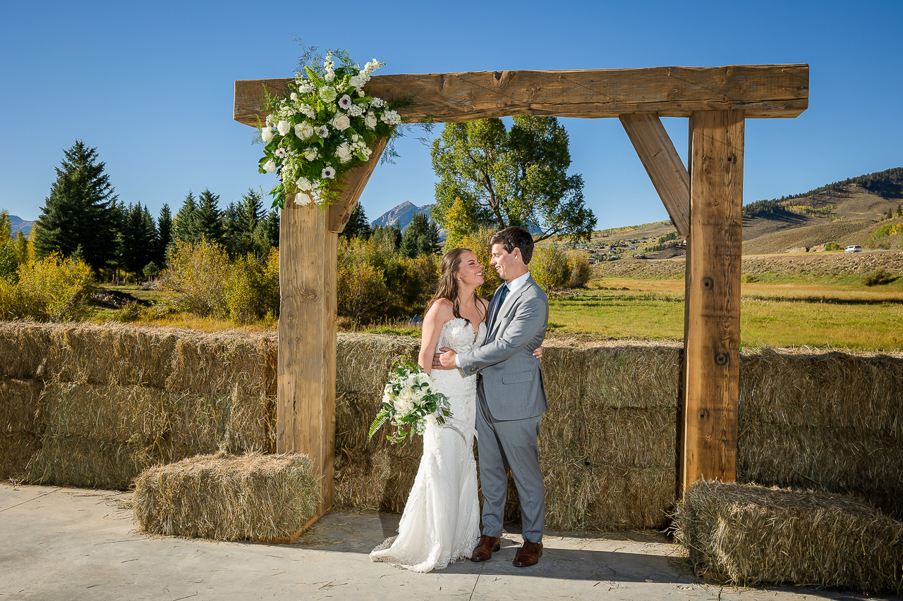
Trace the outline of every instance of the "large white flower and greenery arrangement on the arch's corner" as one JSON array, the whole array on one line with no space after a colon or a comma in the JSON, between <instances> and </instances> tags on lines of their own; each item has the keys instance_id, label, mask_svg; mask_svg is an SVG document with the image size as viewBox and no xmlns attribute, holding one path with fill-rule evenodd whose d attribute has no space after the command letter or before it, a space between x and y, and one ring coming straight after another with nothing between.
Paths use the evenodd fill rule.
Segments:
<instances>
[{"instance_id":1,"label":"large white flower and greenery arrangement on the arch's corner","mask_svg":"<svg viewBox=\"0 0 903 601\"><path fill-rule=\"evenodd\" d=\"M374 59L360 69L347 51L329 51L322 69L306 65L295 73L284 97L266 95L271 112L260 128L266 144L260 172L279 179L270 191L273 207L283 208L286 199L330 206L339 199L342 175L368 162L373 141L395 133L401 116L364 90L385 64Z\"/></svg>"}]
</instances>

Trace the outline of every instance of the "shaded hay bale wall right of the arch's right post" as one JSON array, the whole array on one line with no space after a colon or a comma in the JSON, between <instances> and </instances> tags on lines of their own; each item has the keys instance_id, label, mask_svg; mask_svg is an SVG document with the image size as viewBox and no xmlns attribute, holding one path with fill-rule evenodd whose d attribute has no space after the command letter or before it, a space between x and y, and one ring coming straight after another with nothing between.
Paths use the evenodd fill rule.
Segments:
<instances>
[{"instance_id":1,"label":"shaded hay bale wall right of the arch's right post","mask_svg":"<svg viewBox=\"0 0 903 601\"><path fill-rule=\"evenodd\" d=\"M903 359L744 354L738 421L740 482L859 495L903 518Z\"/></svg>"}]
</instances>

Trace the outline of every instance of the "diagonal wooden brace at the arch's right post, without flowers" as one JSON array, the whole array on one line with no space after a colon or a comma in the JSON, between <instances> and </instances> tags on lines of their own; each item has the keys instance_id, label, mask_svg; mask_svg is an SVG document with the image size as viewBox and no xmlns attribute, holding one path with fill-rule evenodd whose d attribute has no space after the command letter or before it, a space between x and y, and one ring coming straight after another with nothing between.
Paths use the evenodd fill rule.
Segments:
<instances>
[{"instance_id":1,"label":"diagonal wooden brace at the arch's right post, without flowers","mask_svg":"<svg viewBox=\"0 0 903 601\"><path fill-rule=\"evenodd\" d=\"M668 215L675 222L677 233L686 236L690 232L690 174L668 137L665 125L651 113L621 115L620 122Z\"/></svg>"}]
</instances>

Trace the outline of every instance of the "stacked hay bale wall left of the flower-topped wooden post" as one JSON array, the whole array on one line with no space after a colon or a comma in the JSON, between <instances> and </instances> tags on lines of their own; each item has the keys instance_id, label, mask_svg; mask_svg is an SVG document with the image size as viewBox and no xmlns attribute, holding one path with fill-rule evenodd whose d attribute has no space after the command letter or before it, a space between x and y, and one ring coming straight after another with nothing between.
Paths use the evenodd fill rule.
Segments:
<instances>
[{"instance_id":1,"label":"stacked hay bale wall left of the flower-topped wooden post","mask_svg":"<svg viewBox=\"0 0 903 601\"><path fill-rule=\"evenodd\" d=\"M275 356L274 336L0 323L5 477L125 489L159 463L273 451Z\"/></svg>"}]
</instances>

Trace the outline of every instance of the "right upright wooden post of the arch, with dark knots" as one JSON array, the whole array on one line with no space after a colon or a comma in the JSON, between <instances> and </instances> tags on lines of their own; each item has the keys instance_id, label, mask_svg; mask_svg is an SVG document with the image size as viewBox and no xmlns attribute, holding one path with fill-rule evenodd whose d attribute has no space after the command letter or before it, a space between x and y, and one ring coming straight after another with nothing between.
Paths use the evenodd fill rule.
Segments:
<instances>
[{"instance_id":1,"label":"right upright wooden post of the arch, with dark knots","mask_svg":"<svg viewBox=\"0 0 903 601\"><path fill-rule=\"evenodd\" d=\"M743 113L694 113L691 134L684 490L703 477L737 477Z\"/></svg>"}]
</instances>

